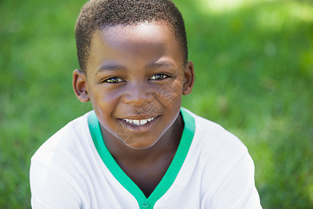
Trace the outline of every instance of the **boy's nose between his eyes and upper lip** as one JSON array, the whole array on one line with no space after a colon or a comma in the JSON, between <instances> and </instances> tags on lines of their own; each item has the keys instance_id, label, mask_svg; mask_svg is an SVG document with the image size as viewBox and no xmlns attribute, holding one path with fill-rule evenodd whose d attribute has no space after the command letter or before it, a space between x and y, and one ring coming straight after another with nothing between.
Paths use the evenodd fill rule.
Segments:
<instances>
[{"instance_id":1,"label":"boy's nose between his eyes and upper lip","mask_svg":"<svg viewBox=\"0 0 313 209\"><path fill-rule=\"evenodd\" d=\"M152 90L149 84L136 82L134 84L127 84L125 87L127 89L122 98L122 102L125 104L132 104L140 107L146 102L151 102L153 99Z\"/></svg>"}]
</instances>

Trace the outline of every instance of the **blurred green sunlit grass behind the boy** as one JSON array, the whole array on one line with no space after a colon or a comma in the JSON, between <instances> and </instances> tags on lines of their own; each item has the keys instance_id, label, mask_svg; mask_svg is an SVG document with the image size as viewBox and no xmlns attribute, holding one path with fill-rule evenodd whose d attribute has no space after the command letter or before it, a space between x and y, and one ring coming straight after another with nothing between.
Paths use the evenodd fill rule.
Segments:
<instances>
[{"instance_id":1,"label":"blurred green sunlit grass behind the boy","mask_svg":"<svg viewBox=\"0 0 313 209\"><path fill-rule=\"evenodd\" d=\"M91 109L72 91L84 2L0 1L0 208L30 208L31 156ZM175 2L196 71L184 107L248 146L264 208L313 208L312 1Z\"/></svg>"}]
</instances>

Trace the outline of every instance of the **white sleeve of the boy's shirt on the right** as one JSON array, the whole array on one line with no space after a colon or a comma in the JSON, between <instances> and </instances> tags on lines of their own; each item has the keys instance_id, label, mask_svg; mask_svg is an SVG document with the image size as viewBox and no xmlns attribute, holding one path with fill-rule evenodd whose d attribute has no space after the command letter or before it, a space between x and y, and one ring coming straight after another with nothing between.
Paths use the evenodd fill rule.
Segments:
<instances>
[{"instance_id":1,"label":"white sleeve of the boy's shirt on the right","mask_svg":"<svg viewBox=\"0 0 313 209\"><path fill-rule=\"evenodd\" d=\"M201 208L262 208L255 187L255 166L248 151L223 175L217 188L214 196L204 196Z\"/></svg>"}]
</instances>

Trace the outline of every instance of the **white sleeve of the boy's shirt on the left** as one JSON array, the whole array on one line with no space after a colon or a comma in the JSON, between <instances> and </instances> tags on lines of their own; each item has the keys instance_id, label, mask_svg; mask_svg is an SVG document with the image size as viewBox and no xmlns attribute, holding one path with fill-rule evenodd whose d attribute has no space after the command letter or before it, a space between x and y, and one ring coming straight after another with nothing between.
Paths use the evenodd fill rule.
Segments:
<instances>
[{"instance_id":1,"label":"white sleeve of the boy's shirt on the left","mask_svg":"<svg viewBox=\"0 0 313 209\"><path fill-rule=\"evenodd\" d=\"M31 206L37 208L83 208L75 181L60 168L31 161Z\"/></svg>"}]
</instances>

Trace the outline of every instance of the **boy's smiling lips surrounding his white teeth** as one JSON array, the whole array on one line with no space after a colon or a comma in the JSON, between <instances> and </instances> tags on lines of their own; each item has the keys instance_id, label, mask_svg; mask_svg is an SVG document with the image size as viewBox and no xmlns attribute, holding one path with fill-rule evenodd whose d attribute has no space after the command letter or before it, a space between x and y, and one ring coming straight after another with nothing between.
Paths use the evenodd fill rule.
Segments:
<instances>
[{"instance_id":1,"label":"boy's smiling lips surrounding his white teeth","mask_svg":"<svg viewBox=\"0 0 313 209\"><path fill-rule=\"evenodd\" d=\"M131 119L131 120L143 120L147 118L154 118L152 121L147 122L143 125L132 125L131 123L127 123L124 121L124 119ZM154 126L157 124L157 121L159 121L160 116L127 116L125 118L118 118L118 121L122 123L122 127L124 130L130 133L143 133L143 132L149 132L154 128Z\"/></svg>"}]
</instances>

